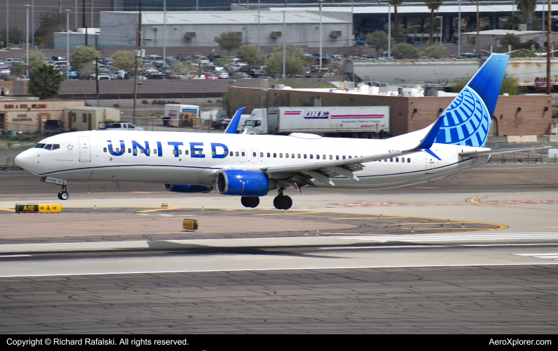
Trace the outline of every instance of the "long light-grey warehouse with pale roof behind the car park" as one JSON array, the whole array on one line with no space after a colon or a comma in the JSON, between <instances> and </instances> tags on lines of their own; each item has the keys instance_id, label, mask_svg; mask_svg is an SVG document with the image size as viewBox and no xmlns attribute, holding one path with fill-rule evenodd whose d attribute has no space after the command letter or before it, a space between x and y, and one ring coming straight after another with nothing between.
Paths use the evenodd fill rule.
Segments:
<instances>
[{"instance_id":1,"label":"long light-grey warehouse with pale roof behind the car park","mask_svg":"<svg viewBox=\"0 0 558 351\"><path fill-rule=\"evenodd\" d=\"M99 45L136 46L138 17L131 11L101 12ZM162 12L141 13L141 47L163 46L165 37L167 46L217 47L214 38L223 32L238 33L244 44L275 46L285 38L287 44L320 46L320 15L315 11L287 11L285 33L283 11L167 12L167 25L163 22ZM323 47L351 44L351 13L323 15L321 22Z\"/></svg>"}]
</instances>

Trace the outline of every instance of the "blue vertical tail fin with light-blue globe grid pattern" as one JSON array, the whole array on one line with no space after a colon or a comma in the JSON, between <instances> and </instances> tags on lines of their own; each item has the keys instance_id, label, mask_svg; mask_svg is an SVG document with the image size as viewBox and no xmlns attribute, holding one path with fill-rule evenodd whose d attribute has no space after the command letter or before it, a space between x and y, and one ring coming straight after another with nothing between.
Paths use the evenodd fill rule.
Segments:
<instances>
[{"instance_id":1,"label":"blue vertical tail fin with light-blue globe grid pattern","mask_svg":"<svg viewBox=\"0 0 558 351\"><path fill-rule=\"evenodd\" d=\"M484 147L509 55L492 54L439 119L434 143Z\"/></svg>"}]
</instances>

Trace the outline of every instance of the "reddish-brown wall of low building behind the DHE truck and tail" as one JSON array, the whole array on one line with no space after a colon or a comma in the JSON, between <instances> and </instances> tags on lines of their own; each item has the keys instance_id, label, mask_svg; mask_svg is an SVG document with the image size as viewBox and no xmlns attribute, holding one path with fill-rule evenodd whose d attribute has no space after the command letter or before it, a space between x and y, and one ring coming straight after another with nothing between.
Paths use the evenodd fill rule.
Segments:
<instances>
[{"instance_id":1,"label":"reddish-brown wall of low building behind the DHE truck and tail","mask_svg":"<svg viewBox=\"0 0 558 351\"><path fill-rule=\"evenodd\" d=\"M229 92L231 111L247 107L244 113L249 114L259 107L261 89L231 87ZM432 124L452 100L269 89L267 106L389 106L391 134L401 135ZM494 117L498 136L548 134L552 100L547 95L500 96Z\"/></svg>"}]
</instances>

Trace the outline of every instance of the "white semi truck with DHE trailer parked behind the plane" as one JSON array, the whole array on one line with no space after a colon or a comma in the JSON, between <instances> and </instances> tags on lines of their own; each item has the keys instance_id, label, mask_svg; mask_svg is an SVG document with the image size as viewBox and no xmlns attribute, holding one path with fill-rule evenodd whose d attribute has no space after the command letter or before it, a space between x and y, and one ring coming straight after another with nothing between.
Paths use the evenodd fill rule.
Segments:
<instances>
[{"instance_id":1,"label":"white semi truck with DHE trailer parked behind the plane","mask_svg":"<svg viewBox=\"0 0 558 351\"><path fill-rule=\"evenodd\" d=\"M270 107L252 110L248 134L316 133L371 138L389 133L389 106Z\"/></svg>"}]
</instances>

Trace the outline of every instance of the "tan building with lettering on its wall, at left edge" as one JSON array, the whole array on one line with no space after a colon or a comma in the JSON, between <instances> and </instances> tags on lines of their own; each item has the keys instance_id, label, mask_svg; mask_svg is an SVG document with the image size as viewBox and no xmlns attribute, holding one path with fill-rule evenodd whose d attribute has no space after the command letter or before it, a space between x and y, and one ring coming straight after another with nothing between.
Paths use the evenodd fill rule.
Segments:
<instances>
[{"instance_id":1,"label":"tan building with lettering on its wall, at left edge","mask_svg":"<svg viewBox=\"0 0 558 351\"><path fill-rule=\"evenodd\" d=\"M0 100L0 133L41 131L48 119L64 122L64 109L79 104L84 100Z\"/></svg>"}]
</instances>

